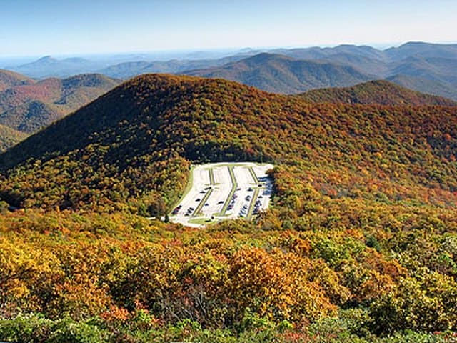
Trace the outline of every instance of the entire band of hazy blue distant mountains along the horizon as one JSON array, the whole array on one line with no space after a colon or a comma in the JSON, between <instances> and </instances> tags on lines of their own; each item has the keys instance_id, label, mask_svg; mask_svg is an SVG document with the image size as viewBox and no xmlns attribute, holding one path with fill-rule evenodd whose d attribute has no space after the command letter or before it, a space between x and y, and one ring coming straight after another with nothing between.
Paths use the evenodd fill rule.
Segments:
<instances>
[{"instance_id":1,"label":"entire band of hazy blue distant mountains along the horizon","mask_svg":"<svg viewBox=\"0 0 457 343\"><path fill-rule=\"evenodd\" d=\"M267 58L264 53L271 56ZM11 70L39 79L87 72L119 79L147 73L222 77L285 94L387 79L416 91L457 100L457 44L409 42L385 50L348 44L333 48L243 49L225 56L198 52L181 54L181 59L151 60L158 56L132 55L124 61L121 56L104 61L45 56ZM109 64L117 60L121 63Z\"/></svg>"}]
</instances>

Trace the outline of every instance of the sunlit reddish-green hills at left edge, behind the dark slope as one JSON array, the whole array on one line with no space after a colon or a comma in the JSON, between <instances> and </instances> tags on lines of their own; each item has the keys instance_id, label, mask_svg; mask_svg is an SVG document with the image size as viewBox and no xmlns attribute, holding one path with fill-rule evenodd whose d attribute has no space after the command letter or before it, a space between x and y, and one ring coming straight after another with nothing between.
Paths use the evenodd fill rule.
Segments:
<instances>
[{"instance_id":1,"label":"sunlit reddish-green hills at left edge, behind the dark slope","mask_svg":"<svg viewBox=\"0 0 457 343\"><path fill-rule=\"evenodd\" d=\"M0 91L0 124L32 133L119 84L100 74L44 79Z\"/></svg>"}]
</instances>

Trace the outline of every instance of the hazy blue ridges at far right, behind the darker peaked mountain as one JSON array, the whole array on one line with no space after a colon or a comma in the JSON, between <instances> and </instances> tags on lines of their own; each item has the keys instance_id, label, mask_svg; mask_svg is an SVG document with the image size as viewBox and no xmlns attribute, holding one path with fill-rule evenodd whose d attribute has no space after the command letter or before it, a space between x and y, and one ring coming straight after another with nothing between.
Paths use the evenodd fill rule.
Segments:
<instances>
[{"instance_id":1,"label":"hazy blue ridges at far right, behind the darker peaked mountain","mask_svg":"<svg viewBox=\"0 0 457 343\"><path fill-rule=\"evenodd\" d=\"M295 59L352 66L364 74L376 75L376 79L393 82L398 79L401 86L457 101L457 44L409 42L384 51L369 46L343 45L275 52Z\"/></svg>"}]
</instances>

